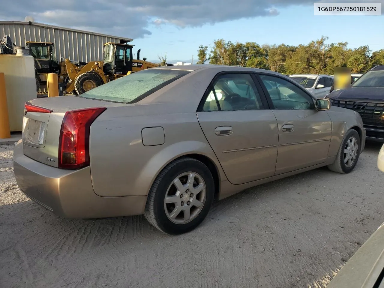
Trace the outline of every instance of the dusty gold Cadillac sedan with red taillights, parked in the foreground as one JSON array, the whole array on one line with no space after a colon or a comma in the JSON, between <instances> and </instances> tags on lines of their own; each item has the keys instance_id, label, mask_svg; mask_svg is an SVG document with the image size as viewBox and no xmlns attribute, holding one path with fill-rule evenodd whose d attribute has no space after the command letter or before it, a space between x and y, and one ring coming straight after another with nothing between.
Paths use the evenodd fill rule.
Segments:
<instances>
[{"instance_id":1,"label":"dusty gold Cadillac sedan with red taillights, parked in the foreground","mask_svg":"<svg viewBox=\"0 0 384 288\"><path fill-rule=\"evenodd\" d=\"M215 65L33 99L23 126L13 163L30 199L69 218L144 214L166 233L194 229L215 198L248 187L321 166L349 173L365 143L359 114L290 78Z\"/></svg>"}]
</instances>

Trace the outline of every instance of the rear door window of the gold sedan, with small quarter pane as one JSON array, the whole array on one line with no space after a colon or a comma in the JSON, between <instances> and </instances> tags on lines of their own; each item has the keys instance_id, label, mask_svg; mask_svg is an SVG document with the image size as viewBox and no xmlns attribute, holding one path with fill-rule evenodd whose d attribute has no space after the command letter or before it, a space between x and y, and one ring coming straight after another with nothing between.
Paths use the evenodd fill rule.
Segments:
<instances>
[{"instance_id":1,"label":"rear door window of the gold sedan, with small quarter pane","mask_svg":"<svg viewBox=\"0 0 384 288\"><path fill-rule=\"evenodd\" d=\"M218 76L205 98L203 111L263 109L260 95L250 74Z\"/></svg>"}]
</instances>

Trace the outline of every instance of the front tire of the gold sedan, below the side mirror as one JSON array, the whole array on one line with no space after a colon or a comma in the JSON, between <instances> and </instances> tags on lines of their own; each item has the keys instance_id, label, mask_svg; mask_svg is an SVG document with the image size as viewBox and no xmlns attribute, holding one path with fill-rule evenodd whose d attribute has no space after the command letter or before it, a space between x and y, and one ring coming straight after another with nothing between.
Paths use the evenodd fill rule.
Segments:
<instances>
[{"instance_id":1,"label":"front tire of the gold sedan, below the side mirror","mask_svg":"<svg viewBox=\"0 0 384 288\"><path fill-rule=\"evenodd\" d=\"M351 144L349 141L353 141L353 139L354 141L356 141L356 144L357 144L357 147L353 149L354 151L353 154L355 155L353 158L354 160L353 162L351 161L352 163L349 161L344 162L344 160L346 159L346 154L344 153L344 151L349 149L348 145ZM349 129L348 132L345 134L343 141L341 141L341 145L335 161L333 162L333 164L328 165L329 170L333 172L338 172L341 174L347 174L351 172L359 160L360 151L361 151L361 140L360 140L359 133L354 129Z\"/></svg>"}]
</instances>

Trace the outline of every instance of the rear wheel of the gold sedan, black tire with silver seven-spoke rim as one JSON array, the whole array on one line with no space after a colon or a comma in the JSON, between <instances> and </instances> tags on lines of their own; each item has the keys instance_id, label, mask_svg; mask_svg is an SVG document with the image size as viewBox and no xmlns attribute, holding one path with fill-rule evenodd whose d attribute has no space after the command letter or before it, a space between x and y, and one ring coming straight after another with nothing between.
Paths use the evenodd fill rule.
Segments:
<instances>
[{"instance_id":1,"label":"rear wheel of the gold sedan, black tire with silver seven-spoke rim","mask_svg":"<svg viewBox=\"0 0 384 288\"><path fill-rule=\"evenodd\" d=\"M194 175L194 187L185 183L192 179L191 175ZM176 179L180 180L179 189L174 184ZM200 189L203 187L200 192L195 192L200 190L196 189L199 188L197 185ZM214 200L214 191L214 179L207 166L189 157L177 159L168 164L152 184L144 216L164 233L175 235L189 232L199 226L207 216ZM166 196L168 199L175 197L175 200L166 203ZM185 211L190 212L185 214Z\"/></svg>"}]
</instances>

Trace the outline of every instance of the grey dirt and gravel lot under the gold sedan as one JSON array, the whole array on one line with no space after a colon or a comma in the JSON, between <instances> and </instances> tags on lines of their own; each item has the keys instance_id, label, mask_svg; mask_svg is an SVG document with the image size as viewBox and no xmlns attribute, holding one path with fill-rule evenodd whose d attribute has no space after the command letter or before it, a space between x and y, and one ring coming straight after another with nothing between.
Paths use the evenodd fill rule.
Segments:
<instances>
[{"instance_id":1,"label":"grey dirt and gravel lot under the gold sedan","mask_svg":"<svg viewBox=\"0 0 384 288\"><path fill-rule=\"evenodd\" d=\"M325 287L384 222L379 148L348 175L248 189L170 237L142 216L56 217L18 190L13 146L0 146L0 287Z\"/></svg>"}]
</instances>

